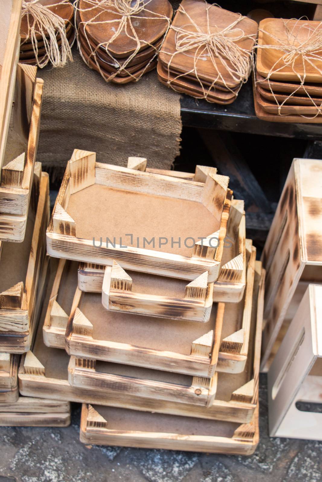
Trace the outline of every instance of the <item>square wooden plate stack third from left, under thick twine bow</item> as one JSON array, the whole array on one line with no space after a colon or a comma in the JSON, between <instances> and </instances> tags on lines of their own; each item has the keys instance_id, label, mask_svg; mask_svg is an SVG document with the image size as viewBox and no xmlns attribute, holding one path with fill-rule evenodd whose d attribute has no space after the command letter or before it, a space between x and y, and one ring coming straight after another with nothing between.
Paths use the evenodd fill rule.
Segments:
<instances>
[{"instance_id":1,"label":"square wooden plate stack third from left, under thick twine bow","mask_svg":"<svg viewBox=\"0 0 322 482\"><path fill-rule=\"evenodd\" d=\"M177 29L196 32L198 28L207 33L207 14L210 33L218 32L218 29L223 30L236 22L240 16L238 13L210 6L203 1L182 0L159 54L158 77L162 83L177 92L206 98L216 104L231 104L236 99L241 81L236 80L238 75L233 76L218 56L213 55L213 60L210 59L206 44L202 48L198 46L176 53ZM245 34L245 38L236 44L251 52L256 40L257 23L245 17L241 18L235 28L243 30ZM229 60L224 60L232 67Z\"/></svg>"}]
</instances>

